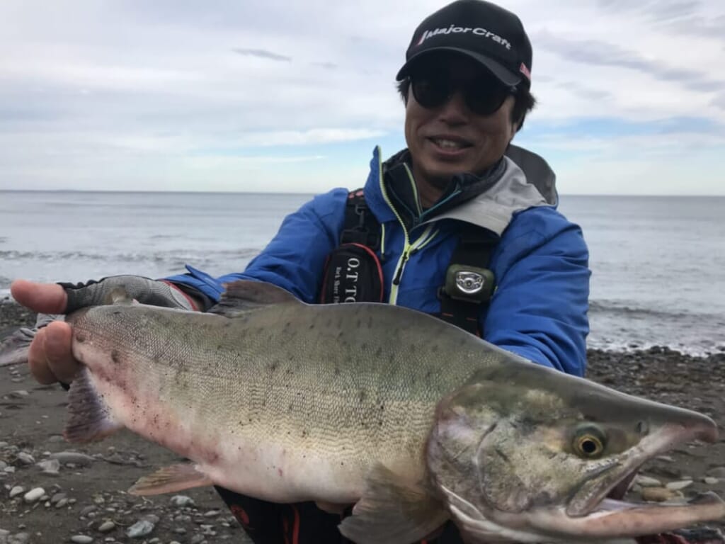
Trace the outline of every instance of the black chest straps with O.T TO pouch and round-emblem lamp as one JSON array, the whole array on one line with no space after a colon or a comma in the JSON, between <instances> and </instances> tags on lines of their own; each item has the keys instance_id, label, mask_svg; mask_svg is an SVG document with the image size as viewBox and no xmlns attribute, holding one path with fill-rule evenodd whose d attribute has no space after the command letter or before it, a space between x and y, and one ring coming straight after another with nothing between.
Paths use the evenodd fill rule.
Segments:
<instances>
[{"instance_id":1,"label":"black chest straps with O.T TO pouch and round-emblem lamp","mask_svg":"<svg viewBox=\"0 0 725 544\"><path fill-rule=\"evenodd\" d=\"M363 189L350 191L340 243L325 263L319 302L385 302L380 244L381 226L365 202ZM484 334L479 315L494 292L495 278L489 269L494 245L483 228L464 223L444 284L438 289L441 311L433 314L479 337Z\"/></svg>"}]
</instances>

